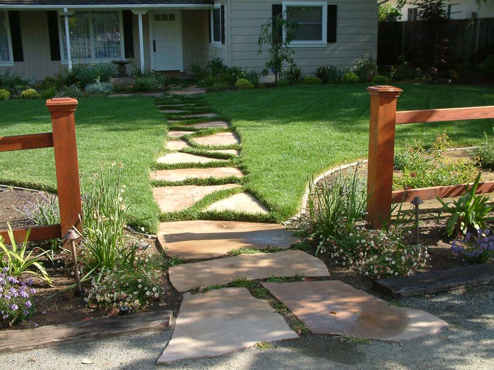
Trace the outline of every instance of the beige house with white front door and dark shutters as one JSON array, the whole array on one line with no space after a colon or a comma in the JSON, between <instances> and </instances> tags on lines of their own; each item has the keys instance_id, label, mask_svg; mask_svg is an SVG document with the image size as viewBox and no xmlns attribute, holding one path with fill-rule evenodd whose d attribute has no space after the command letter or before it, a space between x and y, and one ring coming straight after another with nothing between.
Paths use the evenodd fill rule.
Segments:
<instances>
[{"instance_id":1,"label":"beige house with white front door and dark shutters","mask_svg":"<svg viewBox=\"0 0 494 370\"><path fill-rule=\"evenodd\" d=\"M0 73L39 80L74 63L129 57L156 71L213 57L260 70L260 27L291 7L303 8L292 43L303 73L376 58L375 0L0 0Z\"/></svg>"}]
</instances>

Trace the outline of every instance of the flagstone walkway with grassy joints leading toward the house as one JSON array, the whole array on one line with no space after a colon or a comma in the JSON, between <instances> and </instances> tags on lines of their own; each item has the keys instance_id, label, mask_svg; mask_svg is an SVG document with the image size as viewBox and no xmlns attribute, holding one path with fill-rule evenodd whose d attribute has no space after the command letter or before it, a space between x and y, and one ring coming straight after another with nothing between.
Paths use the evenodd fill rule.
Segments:
<instances>
[{"instance_id":1,"label":"flagstone walkway with grassy joints leading toward the house","mask_svg":"<svg viewBox=\"0 0 494 370\"><path fill-rule=\"evenodd\" d=\"M269 209L244 189L241 140L204 93L174 87L156 98L169 130L151 180L163 219L173 220L159 225L157 237L169 257L184 260L170 267L169 276L186 292L158 364L298 338L300 329L290 327L283 310L313 333L389 341L433 334L447 325L424 311L389 306L328 280L321 260L292 250L299 239L283 225L266 223L272 219ZM307 281L293 281L302 276ZM258 284L265 279L270 282ZM240 285L228 286L235 282Z\"/></svg>"}]
</instances>

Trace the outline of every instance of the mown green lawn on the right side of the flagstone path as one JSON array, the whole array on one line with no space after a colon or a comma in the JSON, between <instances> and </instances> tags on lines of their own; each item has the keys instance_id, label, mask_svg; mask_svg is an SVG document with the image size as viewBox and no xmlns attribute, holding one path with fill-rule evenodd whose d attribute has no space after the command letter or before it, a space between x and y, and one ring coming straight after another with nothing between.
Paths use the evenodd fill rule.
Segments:
<instances>
[{"instance_id":1,"label":"mown green lawn on the right side of the flagstone path","mask_svg":"<svg viewBox=\"0 0 494 370\"><path fill-rule=\"evenodd\" d=\"M494 88L396 84L404 90L398 109L494 105ZM230 118L242 140L245 187L278 221L297 213L308 176L367 157L367 85L296 86L206 94ZM493 135L492 119L400 125L396 145L430 145L446 130L457 146L480 144Z\"/></svg>"}]
</instances>

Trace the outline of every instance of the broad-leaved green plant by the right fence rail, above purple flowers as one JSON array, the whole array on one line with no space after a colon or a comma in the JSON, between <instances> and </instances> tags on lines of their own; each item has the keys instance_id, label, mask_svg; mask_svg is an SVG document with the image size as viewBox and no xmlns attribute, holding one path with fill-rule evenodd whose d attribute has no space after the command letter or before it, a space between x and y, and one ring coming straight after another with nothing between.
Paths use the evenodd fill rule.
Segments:
<instances>
[{"instance_id":1,"label":"broad-leaved green plant by the right fence rail, above purple flowers","mask_svg":"<svg viewBox=\"0 0 494 370\"><path fill-rule=\"evenodd\" d=\"M436 197L441 203L442 208L437 215L441 216L443 212L448 212L449 216L446 222L446 234L448 236L456 232L458 235L466 235L469 229L484 230L486 221L491 221L494 217L487 217L493 207L488 205L489 197L476 195L475 192L479 186L481 173L479 173L469 188L467 185L466 192L457 200L444 202L441 198Z\"/></svg>"}]
</instances>

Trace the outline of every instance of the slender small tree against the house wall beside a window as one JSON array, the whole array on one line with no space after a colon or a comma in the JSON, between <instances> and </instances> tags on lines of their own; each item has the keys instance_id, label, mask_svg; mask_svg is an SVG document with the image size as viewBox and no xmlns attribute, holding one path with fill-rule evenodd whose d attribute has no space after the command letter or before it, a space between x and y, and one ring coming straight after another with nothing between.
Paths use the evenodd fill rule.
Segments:
<instances>
[{"instance_id":1,"label":"slender small tree against the house wall beside a window","mask_svg":"<svg viewBox=\"0 0 494 370\"><path fill-rule=\"evenodd\" d=\"M262 74L265 76L270 70L274 71L275 82L278 83L278 77L283 75L283 63L287 62L290 67L295 68L293 54L295 51L290 48L290 44L295 38L295 31L299 27L297 21L283 12L272 17L267 23L261 26L261 32L257 45L259 50L257 54L262 54L262 46L269 46L269 58L266 61Z\"/></svg>"}]
</instances>

